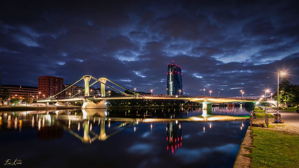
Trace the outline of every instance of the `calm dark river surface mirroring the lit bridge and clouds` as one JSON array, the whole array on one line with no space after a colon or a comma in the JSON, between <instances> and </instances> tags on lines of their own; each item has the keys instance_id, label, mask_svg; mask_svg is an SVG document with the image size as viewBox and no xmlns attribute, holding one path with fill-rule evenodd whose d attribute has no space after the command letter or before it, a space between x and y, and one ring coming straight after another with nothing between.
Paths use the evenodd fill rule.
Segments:
<instances>
[{"instance_id":1,"label":"calm dark river surface mirroring the lit bridge and clouds","mask_svg":"<svg viewBox=\"0 0 299 168\"><path fill-rule=\"evenodd\" d=\"M18 167L232 167L248 110L0 112L0 162ZM237 116L237 117L232 117Z\"/></svg>"}]
</instances>

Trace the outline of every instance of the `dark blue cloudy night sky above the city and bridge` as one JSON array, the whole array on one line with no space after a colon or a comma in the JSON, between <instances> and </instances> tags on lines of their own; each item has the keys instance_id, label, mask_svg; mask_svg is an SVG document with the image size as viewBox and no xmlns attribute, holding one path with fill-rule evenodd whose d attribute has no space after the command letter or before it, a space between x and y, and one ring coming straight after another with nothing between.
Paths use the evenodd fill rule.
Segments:
<instances>
[{"instance_id":1,"label":"dark blue cloudy night sky above the city and bridge","mask_svg":"<svg viewBox=\"0 0 299 168\"><path fill-rule=\"evenodd\" d=\"M189 95L259 96L278 69L299 84L296 1L1 1L0 39L2 84L92 75L166 94L172 60Z\"/></svg>"}]
</instances>

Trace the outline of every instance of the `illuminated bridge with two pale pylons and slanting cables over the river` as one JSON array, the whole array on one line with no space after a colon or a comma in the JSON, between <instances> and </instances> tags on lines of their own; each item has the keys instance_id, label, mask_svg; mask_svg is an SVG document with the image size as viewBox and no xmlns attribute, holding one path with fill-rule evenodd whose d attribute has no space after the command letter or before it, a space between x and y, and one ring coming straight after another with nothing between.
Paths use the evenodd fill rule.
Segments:
<instances>
[{"instance_id":1,"label":"illuminated bridge with two pale pylons and slanting cables over the river","mask_svg":"<svg viewBox=\"0 0 299 168\"><path fill-rule=\"evenodd\" d=\"M93 79L94 82L90 84L90 80ZM85 89L81 90L75 95L70 96L69 98L56 98L57 95L67 90L69 87L73 86L77 82L84 80L84 86ZM130 94L126 94L118 89L115 89L114 87L110 86L106 82L110 82L112 84L115 84L116 86L128 91ZM91 97L89 95L89 87L92 86L95 83L101 83L101 95L102 97ZM107 97L105 95L105 87L110 87L112 90L115 90L124 96L120 97ZM79 93L84 91L84 95L82 97L75 97ZM164 99L164 100L186 100L186 101L193 101L197 103L202 103L202 109L211 109L212 104L216 103L231 103L231 102L257 102L257 98L219 98L219 97L204 97L204 96L169 96L169 95L159 95L159 96L140 96L138 93L133 92L132 90L126 89L125 87L120 86L119 84L116 84L113 81L110 81L107 78L94 78L91 75L84 75L82 78L78 79L76 82L71 84L70 86L66 87L61 92L57 93L56 95L53 95L49 98L36 100L38 103L46 103L48 106L49 102L70 102L70 101L83 101L82 109L96 109L96 108L107 108L106 101L107 100L121 100L121 99ZM97 102L97 103L94 103ZM271 102L271 101L268 101Z\"/></svg>"}]
</instances>

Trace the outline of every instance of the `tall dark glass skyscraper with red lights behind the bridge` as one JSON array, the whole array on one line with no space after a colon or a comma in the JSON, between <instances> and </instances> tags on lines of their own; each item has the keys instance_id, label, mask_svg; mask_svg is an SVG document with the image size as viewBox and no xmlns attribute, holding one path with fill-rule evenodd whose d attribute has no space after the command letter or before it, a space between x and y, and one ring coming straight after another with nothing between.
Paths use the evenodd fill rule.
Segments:
<instances>
[{"instance_id":1,"label":"tall dark glass skyscraper with red lights behind the bridge","mask_svg":"<svg viewBox=\"0 0 299 168\"><path fill-rule=\"evenodd\" d=\"M167 95L181 95L183 92L182 85L182 68L174 61L172 64L168 64L167 70Z\"/></svg>"}]
</instances>

